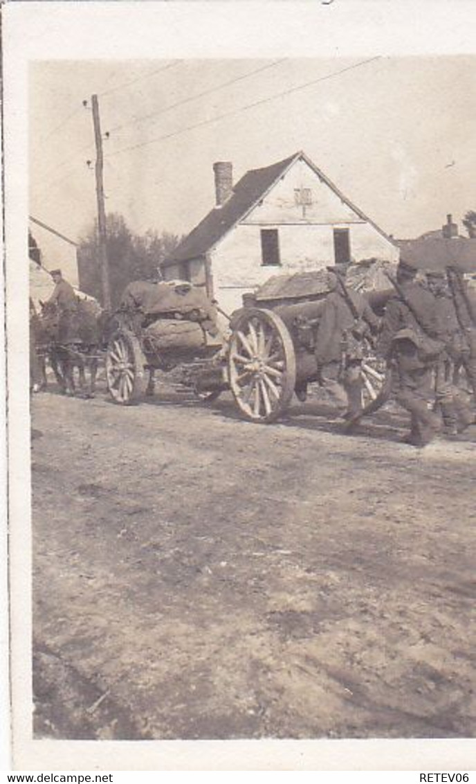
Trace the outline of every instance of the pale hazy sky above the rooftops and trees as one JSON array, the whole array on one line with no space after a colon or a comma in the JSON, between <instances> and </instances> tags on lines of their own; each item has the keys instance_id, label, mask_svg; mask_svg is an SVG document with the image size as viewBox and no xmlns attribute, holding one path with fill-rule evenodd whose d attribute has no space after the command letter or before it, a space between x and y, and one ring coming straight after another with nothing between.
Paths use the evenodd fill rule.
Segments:
<instances>
[{"instance_id":1,"label":"pale hazy sky above the rooftops and trees","mask_svg":"<svg viewBox=\"0 0 476 784\"><path fill-rule=\"evenodd\" d=\"M75 241L94 220L97 93L106 212L136 232L188 233L215 203L215 161L233 162L237 181L297 150L396 238L447 213L460 223L476 209L475 60L33 63L30 212Z\"/></svg>"}]
</instances>

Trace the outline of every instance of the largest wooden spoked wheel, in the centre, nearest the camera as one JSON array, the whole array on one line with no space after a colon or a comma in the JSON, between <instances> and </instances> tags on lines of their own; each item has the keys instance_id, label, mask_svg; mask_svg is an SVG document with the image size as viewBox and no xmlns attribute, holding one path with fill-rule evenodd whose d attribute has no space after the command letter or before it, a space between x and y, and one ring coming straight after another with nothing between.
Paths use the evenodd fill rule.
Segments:
<instances>
[{"instance_id":1,"label":"largest wooden spoked wheel, in the centre, nearest the camera","mask_svg":"<svg viewBox=\"0 0 476 784\"><path fill-rule=\"evenodd\" d=\"M243 310L229 342L229 385L240 412L253 422L274 422L296 383L296 357L284 322L271 310Z\"/></svg>"}]
</instances>

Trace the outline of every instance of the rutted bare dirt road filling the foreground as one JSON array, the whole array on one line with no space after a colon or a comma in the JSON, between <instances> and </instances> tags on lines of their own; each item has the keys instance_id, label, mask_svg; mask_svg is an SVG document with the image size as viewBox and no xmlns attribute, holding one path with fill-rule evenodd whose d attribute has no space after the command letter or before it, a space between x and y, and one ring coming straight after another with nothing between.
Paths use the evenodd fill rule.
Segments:
<instances>
[{"instance_id":1,"label":"rutted bare dirt road filling the foreground","mask_svg":"<svg viewBox=\"0 0 476 784\"><path fill-rule=\"evenodd\" d=\"M34 397L37 736L474 735L474 441Z\"/></svg>"}]
</instances>

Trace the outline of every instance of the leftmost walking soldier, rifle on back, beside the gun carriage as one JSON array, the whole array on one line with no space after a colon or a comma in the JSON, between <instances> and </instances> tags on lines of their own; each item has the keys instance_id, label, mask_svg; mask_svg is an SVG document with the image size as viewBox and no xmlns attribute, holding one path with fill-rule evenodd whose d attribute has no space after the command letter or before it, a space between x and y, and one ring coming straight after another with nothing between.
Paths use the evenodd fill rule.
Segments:
<instances>
[{"instance_id":1,"label":"leftmost walking soldier, rifle on back, beside the gun carriage","mask_svg":"<svg viewBox=\"0 0 476 784\"><path fill-rule=\"evenodd\" d=\"M328 267L334 290L324 301L316 333L316 361L323 387L352 423L362 413L362 339L377 332L379 319L362 294L344 283L348 264Z\"/></svg>"}]
</instances>

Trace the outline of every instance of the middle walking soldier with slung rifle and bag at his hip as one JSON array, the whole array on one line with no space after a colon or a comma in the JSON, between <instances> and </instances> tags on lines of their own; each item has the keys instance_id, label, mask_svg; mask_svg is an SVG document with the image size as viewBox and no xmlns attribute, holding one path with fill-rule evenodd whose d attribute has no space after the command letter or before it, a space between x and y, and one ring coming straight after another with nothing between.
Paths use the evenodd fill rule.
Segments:
<instances>
[{"instance_id":1,"label":"middle walking soldier with slung rifle and bag at his hip","mask_svg":"<svg viewBox=\"0 0 476 784\"><path fill-rule=\"evenodd\" d=\"M428 407L433 395L433 372L444 350L435 299L416 282L416 267L401 260L395 295L388 300L379 351L393 368L395 399L411 414L405 441L423 447L441 430L441 420Z\"/></svg>"}]
</instances>

